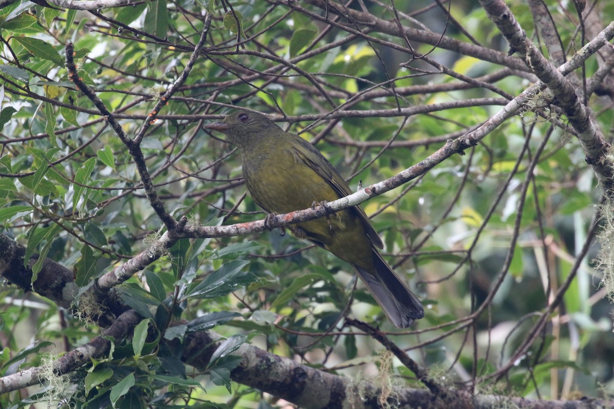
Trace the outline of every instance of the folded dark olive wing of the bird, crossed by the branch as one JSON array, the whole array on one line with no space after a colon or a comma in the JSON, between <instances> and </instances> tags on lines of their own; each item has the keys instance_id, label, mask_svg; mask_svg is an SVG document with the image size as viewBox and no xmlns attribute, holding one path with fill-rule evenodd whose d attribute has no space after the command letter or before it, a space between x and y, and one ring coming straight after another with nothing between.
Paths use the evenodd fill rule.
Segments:
<instances>
[{"instance_id":1,"label":"folded dark olive wing of the bird, crossed by the branch","mask_svg":"<svg viewBox=\"0 0 614 409\"><path fill-rule=\"evenodd\" d=\"M309 166L311 169L315 170L316 173L320 175L322 179L326 180L328 184L332 186L333 189L335 189L336 193L339 194L340 198L344 196L348 196L349 194L352 194L352 190L349 188L348 183L346 183L346 181L336 171L336 169L332 166L332 164L328 162L328 159L324 158L324 156L322 155L322 153L320 153L319 150L314 148L313 145L311 145L311 143L307 142L305 139L301 138L300 136L294 135L294 134L291 134L291 135L295 137L298 140L298 142L306 150L311 151L316 156L320 156L322 160L316 163L315 161L310 159L308 156L306 156L303 152L301 152L298 149L295 149L295 155L297 156L297 158L300 158L302 161L304 161L305 164ZM375 247L377 248L383 248L384 243L379 238L378 232L376 232L375 229L373 228L373 225L369 221L367 213L365 213L362 206L360 205L354 206L354 211L356 212L356 214L359 216L360 220L362 221L362 224L365 227L365 232L367 232L367 235L369 239L371 240L371 243L373 243L373 245L375 245Z\"/></svg>"}]
</instances>

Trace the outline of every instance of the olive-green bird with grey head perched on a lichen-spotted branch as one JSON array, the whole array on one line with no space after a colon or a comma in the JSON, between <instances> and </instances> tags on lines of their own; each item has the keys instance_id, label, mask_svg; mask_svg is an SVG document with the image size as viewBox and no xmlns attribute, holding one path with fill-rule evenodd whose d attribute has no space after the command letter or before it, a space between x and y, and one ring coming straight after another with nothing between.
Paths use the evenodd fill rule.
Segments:
<instances>
[{"instance_id":1,"label":"olive-green bird with grey head perched on a lichen-spotted branch","mask_svg":"<svg viewBox=\"0 0 614 409\"><path fill-rule=\"evenodd\" d=\"M204 128L223 132L239 148L247 189L266 212L289 213L352 193L311 143L264 115L241 110ZM422 304L378 253L384 245L360 205L290 230L349 262L395 327L424 316Z\"/></svg>"}]
</instances>

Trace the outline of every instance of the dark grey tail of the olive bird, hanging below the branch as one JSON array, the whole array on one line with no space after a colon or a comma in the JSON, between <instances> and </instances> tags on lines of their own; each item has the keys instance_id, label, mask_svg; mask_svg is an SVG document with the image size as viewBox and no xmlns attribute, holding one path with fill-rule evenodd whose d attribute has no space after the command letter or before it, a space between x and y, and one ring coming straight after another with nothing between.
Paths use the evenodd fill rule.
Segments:
<instances>
[{"instance_id":1,"label":"dark grey tail of the olive bird, hanging below the branch","mask_svg":"<svg viewBox=\"0 0 614 409\"><path fill-rule=\"evenodd\" d=\"M403 280L373 249L373 271L352 265L391 323L406 328L424 316L424 308Z\"/></svg>"}]
</instances>

